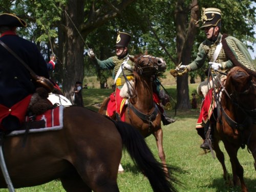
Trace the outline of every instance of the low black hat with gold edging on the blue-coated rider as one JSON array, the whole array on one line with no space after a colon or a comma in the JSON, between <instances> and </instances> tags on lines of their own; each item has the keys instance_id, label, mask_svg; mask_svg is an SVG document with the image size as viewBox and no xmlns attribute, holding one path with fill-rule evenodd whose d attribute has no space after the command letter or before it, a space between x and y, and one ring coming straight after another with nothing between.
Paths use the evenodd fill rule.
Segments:
<instances>
[{"instance_id":1,"label":"low black hat with gold edging on the blue-coated rider","mask_svg":"<svg viewBox=\"0 0 256 192\"><path fill-rule=\"evenodd\" d=\"M3 13L0 14L0 26L27 27L27 24L15 14Z\"/></svg>"}]
</instances>

